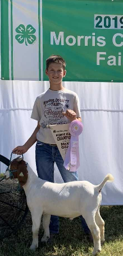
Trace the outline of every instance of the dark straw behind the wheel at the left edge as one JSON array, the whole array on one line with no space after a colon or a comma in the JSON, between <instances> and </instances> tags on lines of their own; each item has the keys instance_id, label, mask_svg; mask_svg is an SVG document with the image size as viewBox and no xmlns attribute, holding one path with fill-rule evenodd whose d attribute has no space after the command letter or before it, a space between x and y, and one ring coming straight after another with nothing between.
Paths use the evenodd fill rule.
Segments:
<instances>
[{"instance_id":1,"label":"dark straw behind the wheel at the left edge","mask_svg":"<svg viewBox=\"0 0 123 256\"><path fill-rule=\"evenodd\" d=\"M24 215L25 206L25 192L24 189L19 190L18 180L2 180L0 183L0 237L9 236L13 232L8 224L13 230L17 228Z\"/></svg>"}]
</instances>

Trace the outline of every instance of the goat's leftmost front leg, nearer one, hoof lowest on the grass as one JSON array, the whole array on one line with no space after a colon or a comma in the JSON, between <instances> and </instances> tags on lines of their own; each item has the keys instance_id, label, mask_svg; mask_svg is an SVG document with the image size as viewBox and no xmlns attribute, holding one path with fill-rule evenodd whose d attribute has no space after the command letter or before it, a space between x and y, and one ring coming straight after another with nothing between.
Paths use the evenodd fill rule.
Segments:
<instances>
[{"instance_id":1,"label":"goat's leftmost front leg, nearer one, hoof lowest on the grass","mask_svg":"<svg viewBox=\"0 0 123 256\"><path fill-rule=\"evenodd\" d=\"M30 246L31 250L35 250L36 248L38 248L38 232L40 228L41 217L42 217L41 209L37 209L33 211L31 210L31 219L33 222L33 226L32 226L33 242Z\"/></svg>"}]
</instances>

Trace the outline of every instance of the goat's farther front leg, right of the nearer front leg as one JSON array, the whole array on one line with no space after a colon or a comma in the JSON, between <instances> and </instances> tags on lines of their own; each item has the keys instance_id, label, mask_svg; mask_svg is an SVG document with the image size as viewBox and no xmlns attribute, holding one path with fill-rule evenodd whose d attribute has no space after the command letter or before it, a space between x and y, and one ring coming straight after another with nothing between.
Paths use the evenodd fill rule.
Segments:
<instances>
[{"instance_id":1,"label":"goat's farther front leg, right of the nearer front leg","mask_svg":"<svg viewBox=\"0 0 123 256\"><path fill-rule=\"evenodd\" d=\"M47 242L50 234L49 234L49 223L50 223L51 215L44 214L43 215L43 228L44 228L44 235L42 237L41 242Z\"/></svg>"}]
</instances>

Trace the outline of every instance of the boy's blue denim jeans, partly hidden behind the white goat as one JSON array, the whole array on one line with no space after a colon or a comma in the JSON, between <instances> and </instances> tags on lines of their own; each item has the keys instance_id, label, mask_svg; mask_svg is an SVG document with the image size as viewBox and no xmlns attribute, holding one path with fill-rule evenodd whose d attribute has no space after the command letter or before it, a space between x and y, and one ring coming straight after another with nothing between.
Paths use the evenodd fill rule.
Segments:
<instances>
[{"instance_id":1,"label":"boy's blue denim jeans, partly hidden behind the white goat","mask_svg":"<svg viewBox=\"0 0 123 256\"><path fill-rule=\"evenodd\" d=\"M42 180L47 180L54 183L54 162L57 164L58 170L65 183L69 181L78 180L77 172L69 172L63 166L63 159L57 146L51 146L41 141L37 141L35 158L37 165L38 177ZM81 216L81 225L84 232L88 233L89 228L85 219ZM58 216L51 215L51 222L49 224L49 231L51 233L59 233L59 219Z\"/></svg>"}]
</instances>

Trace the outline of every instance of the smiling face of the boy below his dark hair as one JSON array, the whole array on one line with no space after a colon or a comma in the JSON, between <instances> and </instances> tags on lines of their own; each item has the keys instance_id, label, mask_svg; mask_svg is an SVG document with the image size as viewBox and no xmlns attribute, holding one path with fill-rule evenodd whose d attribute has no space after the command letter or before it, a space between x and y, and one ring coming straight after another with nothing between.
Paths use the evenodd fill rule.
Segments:
<instances>
[{"instance_id":1,"label":"smiling face of the boy below his dark hair","mask_svg":"<svg viewBox=\"0 0 123 256\"><path fill-rule=\"evenodd\" d=\"M66 70L63 70L62 64L60 63L51 63L49 64L48 70L45 70L45 73L52 84L60 84L66 75Z\"/></svg>"}]
</instances>

